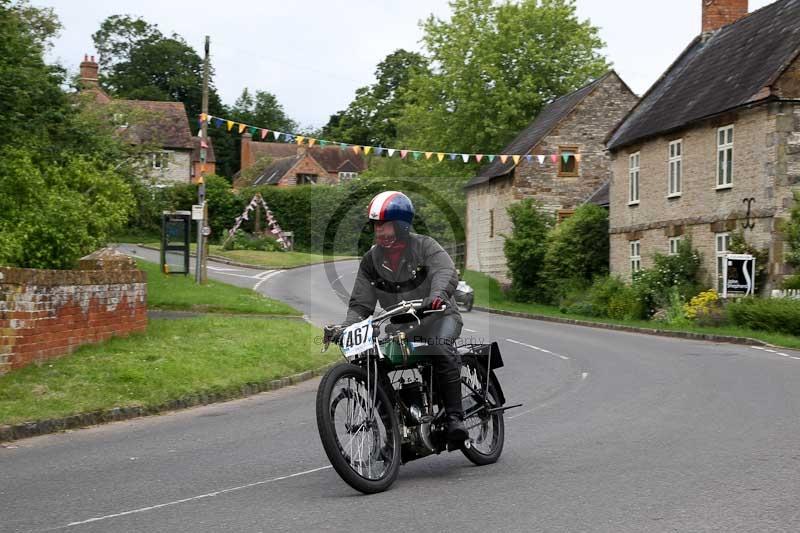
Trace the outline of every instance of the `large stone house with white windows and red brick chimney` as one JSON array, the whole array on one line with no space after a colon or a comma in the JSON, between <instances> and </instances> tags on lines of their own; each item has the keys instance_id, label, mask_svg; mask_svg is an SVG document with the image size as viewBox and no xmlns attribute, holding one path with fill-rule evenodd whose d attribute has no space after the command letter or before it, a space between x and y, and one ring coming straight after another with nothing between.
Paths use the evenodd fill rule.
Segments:
<instances>
[{"instance_id":1,"label":"large stone house with white windows and red brick chimney","mask_svg":"<svg viewBox=\"0 0 800 533\"><path fill-rule=\"evenodd\" d=\"M691 238L719 289L740 231L769 250L760 289L789 273L780 221L800 184L797 28L800 0L749 15L747 0L703 1L702 34L609 136L612 273L630 276Z\"/></svg>"}]
</instances>

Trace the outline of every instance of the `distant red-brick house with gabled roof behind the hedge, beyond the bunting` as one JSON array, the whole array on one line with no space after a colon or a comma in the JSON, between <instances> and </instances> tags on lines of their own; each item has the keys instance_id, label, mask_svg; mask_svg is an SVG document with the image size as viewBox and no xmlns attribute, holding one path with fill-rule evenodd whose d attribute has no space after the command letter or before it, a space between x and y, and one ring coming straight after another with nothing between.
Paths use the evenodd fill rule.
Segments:
<instances>
[{"instance_id":1,"label":"distant red-brick house with gabled roof behind the hedge, beyond the bunting","mask_svg":"<svg viewBox=\"0 0 800 533\"><path fill-rule=\"evenodd\" d=\"M270 163L259 169L255 178L246 180L241 171L247 170L269 158ZM367 169L364 156L351 149L337 146L305 146L291 143L253 141L252 135L242 135L241 171L236 176L236 187L245 185L336 185L352 179Z\"/></svg>"}]
</instances>

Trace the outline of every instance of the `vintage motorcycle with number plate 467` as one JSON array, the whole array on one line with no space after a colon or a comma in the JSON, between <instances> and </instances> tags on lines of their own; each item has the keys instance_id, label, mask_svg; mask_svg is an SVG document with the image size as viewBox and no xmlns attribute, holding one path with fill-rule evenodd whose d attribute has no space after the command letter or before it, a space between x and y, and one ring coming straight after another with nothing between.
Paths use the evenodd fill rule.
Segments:
<instances>
[{"instance_id":1,"label":"vintage motorcycle with number plate 467","mask_svg":"<svg viewBox=\"0 0 800 533\"><path fill-rule=\"evenodd\" d=\"M317 429L333 468L365 494L388 489L400 465L448 450L445 412L429 356L415 354L405 328L381 326L389 319L421 327L437 312L422 300L401 302L341 332L346 362L331 368L317 390ZM325 328L326 350L337 330ZM476 465L497 461L503 451L505 396L494 370L503 366L497 343L457 346L461 358L464 424L469 438L458 446ZM451 445L452 446L452 445ZM452 449L450 449L452 451Z\"/></svg>"}]
</instances>

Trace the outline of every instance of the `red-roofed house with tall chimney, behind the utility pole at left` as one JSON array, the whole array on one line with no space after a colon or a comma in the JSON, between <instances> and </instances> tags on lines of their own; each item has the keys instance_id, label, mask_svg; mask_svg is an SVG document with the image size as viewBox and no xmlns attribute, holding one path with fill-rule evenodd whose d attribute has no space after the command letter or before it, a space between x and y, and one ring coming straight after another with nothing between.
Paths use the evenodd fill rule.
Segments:
<instances>
[{"instance_id":1,"label":"red-roofed house with tall chimney, behind the utility pole at left","mask_svg":"<svg viewBox=\"0 0 800 533\"><path fill-rule=\"evenodd\" d=\"M99 65L94 56L80 64L81 94L97 104L114 106L118 133L132 144L148 144L156 149L143 162L143 179L154 185L194 182L202 171L200 139L193 137L182 102L112 99L98 83ZM215 161L211 139L204 175L213 174Z\"/></svg>"}]
</instances>

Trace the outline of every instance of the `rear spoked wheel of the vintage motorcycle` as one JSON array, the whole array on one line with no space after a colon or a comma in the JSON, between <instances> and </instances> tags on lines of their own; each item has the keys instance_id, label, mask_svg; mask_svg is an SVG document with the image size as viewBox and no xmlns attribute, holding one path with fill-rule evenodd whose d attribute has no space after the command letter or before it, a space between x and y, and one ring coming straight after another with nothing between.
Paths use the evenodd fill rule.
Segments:
<instances>
[{"instance_id":1,"label":"rear spoked wheel of the vintage motorcycle","mask_svg":"<svg viewBox=\"0 0 800 533\"><path fill-rule=\"evenodd\" d=\"M476 465L497 462L503 451L505 425L503 413L489 413L483 404L486 368L473 355L463 355L461 365L461 403L464 406L464 425L469 432L470 446L464 455ZM497 394L489 382L488 402L497 406Z\"/></svg>"}]
</instances>

